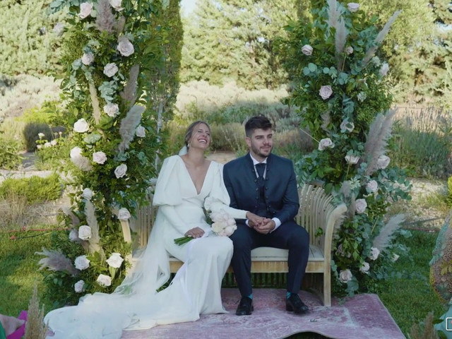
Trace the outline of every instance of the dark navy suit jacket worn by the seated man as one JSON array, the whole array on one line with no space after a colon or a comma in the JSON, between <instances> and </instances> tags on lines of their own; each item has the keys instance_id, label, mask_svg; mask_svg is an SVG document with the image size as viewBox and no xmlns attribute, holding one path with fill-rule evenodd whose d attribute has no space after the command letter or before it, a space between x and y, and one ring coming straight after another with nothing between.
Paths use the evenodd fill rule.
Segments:
<instances>
[{"instance_id":1,"label":"dark navy suit jacket worn by the seated man","mask_svg":"<svg viewBox=\"0 0 452 339\"><path fill-rule=\"evenodd\" d=\"M231 199L230 206L256 213L259 191L249 153L227 162L223 168L223 177ZM267 157L265 192L266 218L278 218L282 224L294 220L298 213L299 198L291 160L274 154Z\"/></svg>"}]
</instances>

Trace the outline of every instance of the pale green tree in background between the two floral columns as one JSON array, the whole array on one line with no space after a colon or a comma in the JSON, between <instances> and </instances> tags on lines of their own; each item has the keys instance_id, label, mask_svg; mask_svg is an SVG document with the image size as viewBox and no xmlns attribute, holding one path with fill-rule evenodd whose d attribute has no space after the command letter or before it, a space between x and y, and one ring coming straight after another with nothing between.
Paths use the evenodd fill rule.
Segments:
<instances>
[{"instance_id":1,"label":"pale green tree in background between the two floral columns","mask_svg":"<svg viewBox=\"0 0 452 339\"><path fill-rule=\"evenodd\" d=\"M286 74L274 53L274 40L295 16L295 1L198 1L184 23L182 82L236 81L247 89L278 88Z\"/></svg>"}]
</instances>

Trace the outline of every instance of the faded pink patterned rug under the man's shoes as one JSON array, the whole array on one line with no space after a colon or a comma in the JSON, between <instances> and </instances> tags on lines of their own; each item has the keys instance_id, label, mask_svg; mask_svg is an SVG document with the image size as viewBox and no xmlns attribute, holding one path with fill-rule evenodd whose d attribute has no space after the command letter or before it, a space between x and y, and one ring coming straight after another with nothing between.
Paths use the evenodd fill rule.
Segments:
<instances>
[{"instance_id":1,"label":"faded pink patterned rug under the man's shoes","mask_svg":"<svg viewBox=\"0 0 452 339\"><path fill-rule=\"evenodd\" d=\"M254 312L236 316L239 291L222 290L229 314L210 314L191 323L157 326L143 331L124 331L123 339L278 339L314 332L335 339L404 339L391 314L377 295L356 295L342 300L333 298L331 307L323 307L315 295L300 292L309 313L295 315L285 311L285 290L255 289Z\"/></svg>"}]
</instances>

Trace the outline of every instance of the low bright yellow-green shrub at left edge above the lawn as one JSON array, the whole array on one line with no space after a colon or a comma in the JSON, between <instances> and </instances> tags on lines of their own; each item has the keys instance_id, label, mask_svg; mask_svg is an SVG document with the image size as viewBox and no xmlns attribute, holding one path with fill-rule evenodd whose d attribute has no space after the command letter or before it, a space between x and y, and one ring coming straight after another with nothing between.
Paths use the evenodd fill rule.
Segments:
<instances>
[{"instance_id":1,"label":"low bright yellow-green shrub at left edge above the lawn","mask_svg":"<svg viewBox=\"0 0 452 339\"><path fill-rule=\"evenodd\" d=\"M44 178L36 175L21 179L7 178L0 185L0 196L17 194L24 196L30 204L57 200L62 191L61 179L56 173Z\"/></svg>"}]
</instances>

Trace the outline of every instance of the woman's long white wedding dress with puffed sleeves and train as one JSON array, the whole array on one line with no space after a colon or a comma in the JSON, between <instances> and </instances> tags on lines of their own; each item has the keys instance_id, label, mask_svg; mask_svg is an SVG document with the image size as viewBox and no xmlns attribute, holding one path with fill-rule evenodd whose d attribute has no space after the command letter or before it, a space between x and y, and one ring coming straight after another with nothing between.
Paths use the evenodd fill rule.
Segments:
<instances>
[{"instance_id":1,"label":"woman's long white wedding dress with puffed sleeves and train","mask_svg":"<svg viewBox=\"0 0 452 339\"><path fill-rule=\"evenodd\" d=\"M229 207L222 165L210 162L200 192L179 155L162 165L153 203L160 206L148 246L138 264L111 294L95 293L77 306L50 311L44 318L57 338L121 338L123 330L196 321L200 314L225 313L221 282L232 257L232 241L210 232L203 207L225 209L232 218L246 211ZM185 245L174 244L187 230L201 227L205 236ZM171 285L156 292L169 278L168 253L184 261Z\"/></svg>"}]
</instances>

